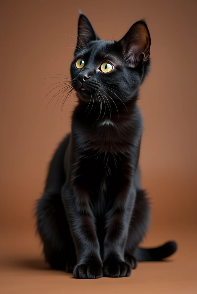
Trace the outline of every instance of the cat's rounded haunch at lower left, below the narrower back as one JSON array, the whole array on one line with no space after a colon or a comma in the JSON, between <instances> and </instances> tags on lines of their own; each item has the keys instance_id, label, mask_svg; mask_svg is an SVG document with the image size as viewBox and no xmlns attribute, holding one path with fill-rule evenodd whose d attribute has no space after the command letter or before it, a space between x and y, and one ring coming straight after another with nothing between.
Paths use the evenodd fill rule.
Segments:
<instances>
[{"instance_id":1,"label":"cat's rounded haunch at lower left, below the narrower back","mask_svg":"<svg viewBox=\"0 0 197 294\"><path fill-rule=\"evenodd\" d=\"M44 193L36 214L45 260L52 268L73 272L77 260L61 195Z\"/></svg>"}]
</instances>

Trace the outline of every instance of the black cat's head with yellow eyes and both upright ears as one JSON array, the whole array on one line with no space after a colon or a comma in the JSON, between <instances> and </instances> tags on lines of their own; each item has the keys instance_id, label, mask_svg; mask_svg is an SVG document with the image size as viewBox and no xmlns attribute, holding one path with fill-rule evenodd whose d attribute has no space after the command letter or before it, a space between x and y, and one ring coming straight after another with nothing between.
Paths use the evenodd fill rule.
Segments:
<instances>
[{"instance_id":1,"label":"black cat's head with yellow eyes and both upright ears","mask_svg":"<svg viewBox=\"0 0 197 294\"><path fill-rule=\"evenodd\" d=\"M109 104L115 101L117 104L136 97L149 70L150 44L145 21L133 24L120 41L104 41L81 14L70 68L72 86L78 98Z\"/></svg>"}]
</instances>

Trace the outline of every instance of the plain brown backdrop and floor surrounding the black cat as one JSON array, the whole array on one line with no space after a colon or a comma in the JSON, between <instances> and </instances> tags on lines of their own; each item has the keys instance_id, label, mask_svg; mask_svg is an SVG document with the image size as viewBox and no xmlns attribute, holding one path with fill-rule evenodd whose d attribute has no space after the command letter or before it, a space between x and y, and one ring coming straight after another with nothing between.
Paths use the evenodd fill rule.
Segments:
<instances>
[{"instance_id":1,"label":"plain brown backdrop and floor surrounding the black cat","mask_svg":"<svg viewBox=\"0 0 197 294\"><path fill-rule=\"evenodd\" d=\"M120 39L143 17L152 38L139 101L142 184L152 199L144 245L176 239L179 251L173 262L142 263L125 279L79 281L48 271L34 235L35 200L76 103L71 96L61 120L61 103L47 107L52 93L43 101L61 79L42 78L69 75L76 40L67 35L76 37L79 9L103 39ZM16 0L1 1L0 11L2 293L195 293L197 2Z\"/></svg>"}]
</instances>

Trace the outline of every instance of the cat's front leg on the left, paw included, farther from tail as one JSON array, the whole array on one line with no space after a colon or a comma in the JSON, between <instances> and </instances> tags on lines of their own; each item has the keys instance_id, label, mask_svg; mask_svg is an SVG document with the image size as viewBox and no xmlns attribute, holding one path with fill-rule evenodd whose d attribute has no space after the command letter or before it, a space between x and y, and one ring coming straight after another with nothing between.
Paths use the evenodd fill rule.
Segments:
<instances>
[{"instance_id":1,"label":"cat's front leg on the left, paw included, farther from tail","mask_svg":"<svg viewBox=\"0 0 197 294\"><path fill-rule=\"evenodd\" d=\"M88 193L81 187L65 185L62 189L62 201L77 254L74 277L101 278L103 276L102 261Z\"/></svg>"}]
</instances>

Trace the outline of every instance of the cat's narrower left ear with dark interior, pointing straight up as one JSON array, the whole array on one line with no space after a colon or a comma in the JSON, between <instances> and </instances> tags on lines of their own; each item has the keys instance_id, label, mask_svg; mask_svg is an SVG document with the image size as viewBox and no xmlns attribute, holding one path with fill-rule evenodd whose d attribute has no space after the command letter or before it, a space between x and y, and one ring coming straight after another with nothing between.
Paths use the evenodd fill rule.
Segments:
<instances>
[{"instance_id":1,"label":"cat's narrower left ear with dark interior, pointing straight up","mask_svg":"<svg viewBox=\"0 0 197 294\"><path fill-rule=\"evenodd\" d=\"M89 41L98 40L89 19L84 15L80 14L78 21L78 34L77 34L77 47L76 51L87 47Z\"/></svg>"}]
</instances>

